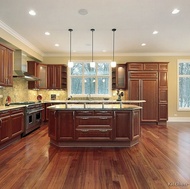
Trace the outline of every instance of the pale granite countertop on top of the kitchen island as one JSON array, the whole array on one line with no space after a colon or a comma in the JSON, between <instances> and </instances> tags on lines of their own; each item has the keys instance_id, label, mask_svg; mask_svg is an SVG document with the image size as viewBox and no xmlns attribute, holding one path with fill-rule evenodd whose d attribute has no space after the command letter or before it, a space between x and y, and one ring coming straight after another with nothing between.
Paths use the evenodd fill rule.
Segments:
<instances>
[{"instance_id":1,"label":"pale granite countertop on top of the kitchen island","mask_svg":"<svg viewBox=\"0 0 190 189\"><path fill-rule=\"evenodd\" d=\"M120 104L60 104L49 106L48 109L53 110L134 110L142 109L137 105L122 105Z\"/></svg>"}]
</instances>

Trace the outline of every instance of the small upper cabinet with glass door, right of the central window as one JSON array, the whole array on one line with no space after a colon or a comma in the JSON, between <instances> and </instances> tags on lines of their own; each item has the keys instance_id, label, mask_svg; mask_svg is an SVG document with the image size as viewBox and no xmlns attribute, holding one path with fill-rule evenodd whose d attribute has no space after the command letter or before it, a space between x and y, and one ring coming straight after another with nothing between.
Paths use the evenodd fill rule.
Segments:
<instances>
[{"instance_id":1,"label":"small upper cabinet with glass door, right of the central window","mask_svg":"<svg viewBox=\"0 0 190 189\"><path fill-rule=\"evenodd\" d=\"M112 89L126 89L126 65L117 64L112 68Z\"/></svg>"}]
</instances>

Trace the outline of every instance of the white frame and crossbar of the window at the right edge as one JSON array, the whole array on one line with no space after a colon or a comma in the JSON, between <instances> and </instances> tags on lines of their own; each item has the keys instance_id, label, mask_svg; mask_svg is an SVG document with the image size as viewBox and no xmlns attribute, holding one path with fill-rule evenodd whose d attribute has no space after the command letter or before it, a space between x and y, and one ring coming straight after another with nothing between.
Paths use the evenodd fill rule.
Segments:
<instances>
[{"instance_id":1,"label":"white frame and crossbar of the window at the right edge","mask_svg":"<svg viewBox=\"0 0 190 189\"><path fill-rule=\"evenodd\" d=\"M190 78L190 74L187 75L187 76L183 76L183 75L180 75L179 74L179 65L180 63L189 63L190 64L190 59L180 59L180 60L177 60L177 110L180 111L180 112L189 112L190 111L190 106L189 107L185 107L185 108L182 108L182 107L179 107L179 79L181 77L188 77Z\"/></svg>"}]
</instances>

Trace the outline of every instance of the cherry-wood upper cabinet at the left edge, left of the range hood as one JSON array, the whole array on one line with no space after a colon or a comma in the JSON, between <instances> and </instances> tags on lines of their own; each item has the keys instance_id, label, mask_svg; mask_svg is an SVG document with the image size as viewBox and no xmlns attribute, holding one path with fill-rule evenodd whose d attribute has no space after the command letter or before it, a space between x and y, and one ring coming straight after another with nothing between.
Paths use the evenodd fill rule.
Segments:
<instances>
[{"instance_id":1,"label":"cherry-wood upper cabinet at the left edge, left of the range hood","mask_svg":"<svg viewBox=\"0 0 190 189\"><path fill-rule=\"evenodd\" d=\"M0 85L13 86L13 51L0 45Z\"/></svg>"}]
</instances>

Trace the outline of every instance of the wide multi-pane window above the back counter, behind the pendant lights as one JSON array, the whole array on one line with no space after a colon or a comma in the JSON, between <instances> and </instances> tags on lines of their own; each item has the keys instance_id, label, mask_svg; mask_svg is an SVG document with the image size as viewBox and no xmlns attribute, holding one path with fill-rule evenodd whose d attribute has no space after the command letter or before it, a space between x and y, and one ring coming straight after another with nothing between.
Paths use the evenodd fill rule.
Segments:
<instances>
[{"instance_id":1,"label":"wide multi-pane window above the back counter, behind the pendant lights","mask_svg":"<svg viewBox=\"0 0 190 189\"><path fill-rule=\"evenodd\" d=\"M69 96L105 97L111 95L110 63L96 62L95 67L91 67L90 62L74 62L73 67L68 69Z\"/></svg>"}]
</instances>

